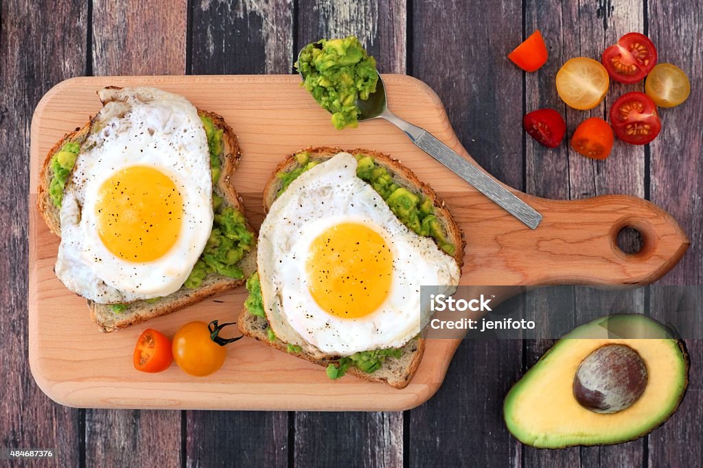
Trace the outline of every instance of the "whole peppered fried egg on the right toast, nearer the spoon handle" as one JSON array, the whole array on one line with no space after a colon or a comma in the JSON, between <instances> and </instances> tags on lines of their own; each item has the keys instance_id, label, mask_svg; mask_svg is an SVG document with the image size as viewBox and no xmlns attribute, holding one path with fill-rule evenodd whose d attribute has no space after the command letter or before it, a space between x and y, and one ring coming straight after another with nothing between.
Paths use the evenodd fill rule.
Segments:
<instances>
[{"instance_id":1,"label":"whole peppered fried egg on the right toast, nearer the spoon handle","mask_svg":"<svg viewBox=\"0 0 703 468\"><path fill-rule=\"evenodd\" d=\"M340 152L305 171L259 231L269 325L284 342L327 356L404 346L427 316L420 286L453 291L460 276L455 259L401 223L356 166Z\"/></svg>"}]
</instances>

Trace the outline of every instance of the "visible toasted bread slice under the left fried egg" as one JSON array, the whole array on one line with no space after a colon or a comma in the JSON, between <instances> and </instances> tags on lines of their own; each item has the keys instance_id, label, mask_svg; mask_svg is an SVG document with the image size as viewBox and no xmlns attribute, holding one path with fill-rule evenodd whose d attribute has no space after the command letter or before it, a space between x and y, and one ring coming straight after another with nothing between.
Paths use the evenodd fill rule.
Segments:
<instances>
[{"instance_id":1,"label":"visible toasted bread slice under the left fried egg","mask_svg":"<svg viewBox=\"0 0 703 468\"><path fill-rule=\"evenodd\" d=\"M223 204L236 209L238 212L245 214L244 204L240 199L236 189L231 184L231 177L236 171L237 164L241 158L241 151L236 134L224 119L215 114L198 109L198 114L201 117L209 117L212 119L214 126L223 131L222 134L222 153L220 155L221 173L217 184L213 191L222 198ZM77 142L82 143L88 136L91 129L91 120L76 131L66 134L56 145L49 150L46 160L39 173L39 188L37 190L37 205L39 213L46 221L49 229L60 236L60 208L56 207L49 195L49 184L53 177L51 169L51 159L65 143ZM254 232L252 227L247 222L247 227ZM167 313L175 312L181 308L191 306L197 302L206 299L214 294L233 290L244 284L245 278L253 273L256 266L256 245L251 246L249 252L245 253L243 259L240 260L238 266L244 273L243 279L229 278L218 273L210 273L200 286L189 289L185 286L180 290L169 294L167 297L151 301L135 301L125 304L127 308L122 311L117 311L108 304L98 304L93 301L87 301L90 311L90 316L93 321L100 327L103 332L112 332L120 328L141 323L150 318L166 315Z\"/></svg>"}]
</instances>

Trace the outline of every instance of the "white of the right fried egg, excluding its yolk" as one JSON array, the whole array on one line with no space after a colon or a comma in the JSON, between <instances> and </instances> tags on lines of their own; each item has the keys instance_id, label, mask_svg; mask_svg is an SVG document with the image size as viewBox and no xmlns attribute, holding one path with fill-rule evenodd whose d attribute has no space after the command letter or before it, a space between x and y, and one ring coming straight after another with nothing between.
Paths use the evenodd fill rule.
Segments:
<instances>
[{"instance_id":1,"label":"white of the right fried egg, excluding its yolk","mask_svg":"<svg viewBox=\"0 0 703 468\"><path fill-rule=\"evenodd\" d=\"M342 152L304 172L272 204L259 231L259 281L269 325L283 341L311 345L328 356L404 346L427 318L420 286L453 290L460 276L453 257L401 223L382 197L356 176L356 166L356 159ZM307 282L311 242L347 222L362 223L382 235L393 258L387 298L376 311L359 318L324 311Z\"/></svg>"}]
</instances>

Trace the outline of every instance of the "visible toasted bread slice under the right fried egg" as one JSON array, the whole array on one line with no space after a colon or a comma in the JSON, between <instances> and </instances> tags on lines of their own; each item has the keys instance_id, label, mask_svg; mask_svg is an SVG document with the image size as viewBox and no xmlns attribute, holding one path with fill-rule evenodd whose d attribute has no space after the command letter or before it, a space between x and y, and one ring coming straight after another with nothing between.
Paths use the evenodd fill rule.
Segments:
<instances>
[{"instance_id":1,"label":"visible toasted bread slice under the right fried egg","mask_svg":"<svg viewBox=\"0 0 703 468\"><path fill-rule=\"evenodd\" d=\"M307 148L310 159L318 161L328 160L340 151L346 150L330 147ZM435 214L441 223L444 233L446 233L446 238L456 246L455 252L453 253L453 258L459 268L461 268L461 266L463 266L465 247L463 233L458 228L456 221L454 221L453 217L449 213L449 210L444 206L444 203L437 198L437 194L434 193L434 190L432 190L430 186L427 186L425 183L421 182L410 169L404 167L400 162L392 159L389 155L365 149L355 149L347 152L352 155L363 153L364 155L373 157L376 164L385 167L389 173L392 174L394 182L398 186L404 187L411 190L413 193L421 194L423 197L432 200ZM273 172L273 175L269 178L269 181L264 187L265 212L269 212L271 204L273 204L276 200L278 191L283 184L283 181L281 181L276 174L279 174L282 171L291 171L297 167L299 167L299 162L297 162L295 155L290 155L283 162L278 164L278 167L276 167L276 170ZM266 319L252 315L246 308L239 316L238 327L240 332L249 337L253 337L260 342L269 344L269 346L273 346L281 351L287 351L288 346L285 342L282 342L278 338L273 341L269 340L268 333L266 331L269 324L266 322ZM425 339L418 337L416 339L412 339L408 342L408 344L406 344L406 346L404 346L399 358L386 358L379 370L372 373L366 373L357 368L350 367L347 373L371 382L385 382L395 389L403 389L408 385L413 378L413 375L415 375L415 372L418 370L424 349ZM339 359L338 356L324 356L311 346L302 346L301 351L294 354L299 358L309 360L311 363L316 363L323 366L327 366L330 363L335 363L335 361Z\"/></svg>"}]
</instances>

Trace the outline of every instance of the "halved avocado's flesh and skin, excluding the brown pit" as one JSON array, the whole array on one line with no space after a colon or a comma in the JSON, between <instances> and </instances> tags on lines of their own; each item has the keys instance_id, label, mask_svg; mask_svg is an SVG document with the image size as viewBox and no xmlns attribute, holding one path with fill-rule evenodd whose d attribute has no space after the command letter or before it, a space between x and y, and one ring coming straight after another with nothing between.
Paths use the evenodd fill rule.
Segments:
<instances>
[{"instance_id":1,"label":"halved avocado's flesh and skin, excluding the brown pit","mask_svg":"<svg viewBox=\"0 0 703 468\"><path fill-rule=\"evenodd\" d=\"M602 414L576 401L573 384L581 362L606 344L637 351L647 386L629 408ZM503 415L510 434L537 448L595 446L649 434L678 409L688 386L688 353L664 325L640 314L619 314L580 325L554 344L512 386Z\"/></svg>"}]
</instances>

